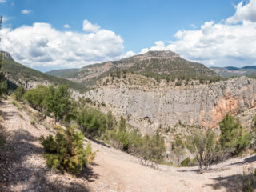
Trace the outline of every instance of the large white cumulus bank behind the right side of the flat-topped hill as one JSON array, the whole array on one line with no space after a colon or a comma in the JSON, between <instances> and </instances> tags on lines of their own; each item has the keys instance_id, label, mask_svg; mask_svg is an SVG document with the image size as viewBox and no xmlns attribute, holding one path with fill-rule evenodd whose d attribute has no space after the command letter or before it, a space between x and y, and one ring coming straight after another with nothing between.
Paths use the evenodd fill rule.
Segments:
<instances>
[{"instance_id":1,"label":"large white cumulus bank behind the right side of the flat-topped hill","mask_svg":"<svg viewBox=\"0 0 256 192\"><path fill-rule=\"evenodd\" d=\"M242 7L252 6L254 2L251 0ZM237 13L238 9L234 16ZM138 54L148 50L172 50L182 58L208 66L256 65L256 22L253 22L253 17L240 20L242 22L237 24L210 21L198 30L178 30L174 41L155 42L154 46L142 49ZM129 52L129 55L134 54Z\"/></svg>"}]
</instances>

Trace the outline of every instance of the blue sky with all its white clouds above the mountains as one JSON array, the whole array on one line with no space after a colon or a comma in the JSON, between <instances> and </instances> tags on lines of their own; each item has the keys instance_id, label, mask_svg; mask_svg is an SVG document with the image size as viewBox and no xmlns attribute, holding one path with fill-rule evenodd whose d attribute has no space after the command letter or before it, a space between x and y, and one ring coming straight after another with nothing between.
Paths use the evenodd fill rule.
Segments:
<instances>
[{"instance_id":1,"label":"blue sky with all its white clouds above the mountains","mask_svg":"<svg viewBox=\"0 0 256 192\"><path fill-rule=\"evenodd\" d=\"M48 71L149 50L256 65L256 0L0 0L0 50Z\"/></svg>"}]
</instances>

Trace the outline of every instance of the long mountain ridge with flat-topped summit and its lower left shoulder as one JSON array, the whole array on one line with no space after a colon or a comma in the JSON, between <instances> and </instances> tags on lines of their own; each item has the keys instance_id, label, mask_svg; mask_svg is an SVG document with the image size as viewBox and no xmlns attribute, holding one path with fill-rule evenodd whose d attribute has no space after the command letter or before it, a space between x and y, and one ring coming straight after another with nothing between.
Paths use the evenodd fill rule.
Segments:
<instances>
[{"instance_id":1,"label":"long mountain ridge with flat-topped summit and its lower left shoulder","mask_svg":"<svg viewBox=\"0 0 256 192\"><path fill-rule=\"evenodd\" d=\"M149 51L146 54L123 58L115 62L102 62L81 69L53 70L46 74L91 85L115 70L126 70L151 78L219 78L213 70L198 62L189 62L172 51Z\"/></svg>"}]
</instances>

